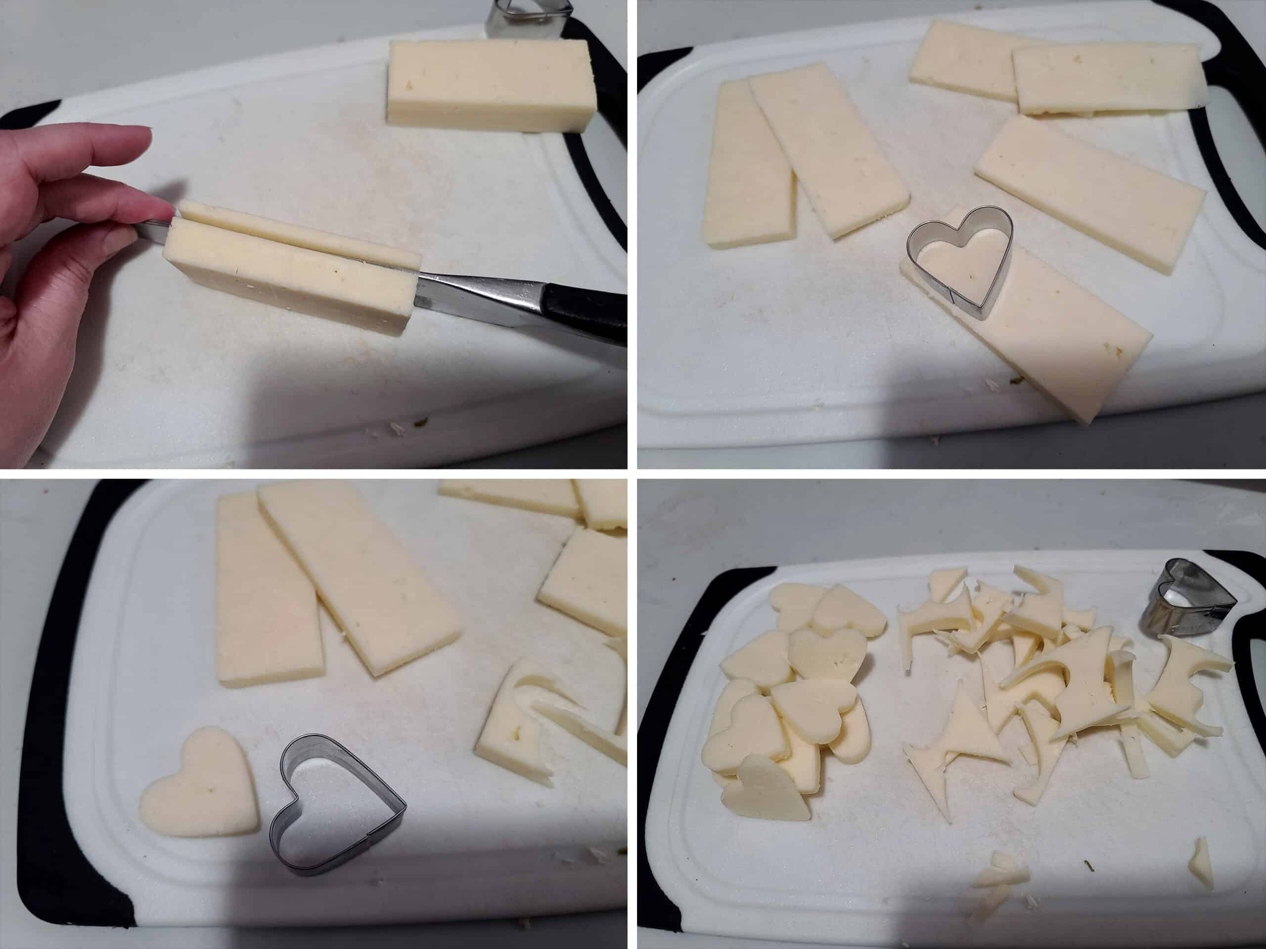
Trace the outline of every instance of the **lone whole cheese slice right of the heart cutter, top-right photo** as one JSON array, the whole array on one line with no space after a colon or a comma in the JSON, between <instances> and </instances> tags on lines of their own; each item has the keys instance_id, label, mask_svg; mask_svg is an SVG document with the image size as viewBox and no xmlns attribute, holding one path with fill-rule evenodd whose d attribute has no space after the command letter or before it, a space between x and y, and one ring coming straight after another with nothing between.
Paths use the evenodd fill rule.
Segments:
<instances>
[{"instance_id":1,"label":"lone whole cheese slice right of the heart cutter, top-right photo","mask_svg":"<svg viewBox=\"0 0 1266 949\"><path fill-rule=\"evenodd\" d=\"M976 175L1161 273L1172 273L1204 191L1050 124L1015 115Z\"/></svg>"}]
</instances>

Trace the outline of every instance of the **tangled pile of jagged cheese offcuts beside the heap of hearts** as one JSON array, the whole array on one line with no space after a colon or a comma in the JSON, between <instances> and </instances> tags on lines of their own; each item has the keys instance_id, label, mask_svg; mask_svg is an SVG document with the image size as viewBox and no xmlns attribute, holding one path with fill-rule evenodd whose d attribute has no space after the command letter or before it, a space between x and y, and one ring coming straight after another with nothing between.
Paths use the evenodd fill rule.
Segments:
<instances>
[{"instance_id":1,"label":"tangled pile of jagged cheese offcuts beside the heap of hearts","mask_svg":"<svg viewBox=\"0 0 1266 949\"><path fill-rule=\"evenodd\" d=\"M1069 609L1058 580L1020 566L1015 567L1015 574L1034 592L1023 593L1017 602L1010 595L980 582L972 604L966 585L957 599L950 601L951 593L966 578L966 569L934 571L929 578L932 597L928 602L917 610L899 611L898 616L906 668L913 635L936 633L951 653L980 661L985 696L982 721L987 723L990 733L999 734L1012 715L1018 714L1023 720L1032 744L1022 747L1022 753L1038 773L1034 781L1015 787L1017 797L1036 806L1065 744L1070 738L1075 741L1077 733L1087 728L1118 729L1134 778L1150 774L1141 735L1176 757L1198 735L1222 734L1220 728L1196 719L1204 695L1189 678L1201 669L1227 672L1233 663L1165 635L1161 639L1169 647L1169 661L1152 690L1137 692L1129 639L1113 635L1112 626L1095 628L1095 609ZM981 650L1000 639L1012 640L1015 663L1010 674L995 682ZM979 712L974 716L975 709L966 710L963 698L960 683L950 721L933 745L905 747L906 757L947 821L944 767L958 753L1006 760L1000 748L982 739L981 723L976 720Z\"/></svg>"}]
</instances>

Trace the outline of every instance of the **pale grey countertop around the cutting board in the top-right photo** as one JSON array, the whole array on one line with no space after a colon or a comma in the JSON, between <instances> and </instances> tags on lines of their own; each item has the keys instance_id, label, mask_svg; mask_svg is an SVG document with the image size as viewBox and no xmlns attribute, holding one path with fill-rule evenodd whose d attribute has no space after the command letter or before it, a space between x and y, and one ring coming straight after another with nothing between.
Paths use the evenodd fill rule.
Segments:
<instances>
[{"instance_id":1,"label":"pale grey countertop around the cutting board in the top-right photo","mask_svg":"<svg viewBox=\"0 0 1266 949\"><path fill-rule=\"evenodd\" d=\"M1061 0L638 0L638 54L703 43L974 8ZM1074 0L1075 1L1075 0ZM1215 0L1266 61L1266 3ZM1266 226L1266 158L1225 90L1209 123L1244 204ZM1263 368L1266 372L1266 368ZM944 435L767 448L642 449L639 468L1262 468L1266 392L1071 423Z\"/></svg>"}]
</instances>

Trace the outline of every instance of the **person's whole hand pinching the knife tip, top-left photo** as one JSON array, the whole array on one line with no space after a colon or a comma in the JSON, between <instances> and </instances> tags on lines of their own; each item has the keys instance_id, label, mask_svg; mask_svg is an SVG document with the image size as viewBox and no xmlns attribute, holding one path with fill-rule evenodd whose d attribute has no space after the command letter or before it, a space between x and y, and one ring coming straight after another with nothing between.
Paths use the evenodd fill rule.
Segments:
<instances>
[{"instance_id":1,"label":"person's whole hand pinching the knife tip, top-left photo","mask_svg":"<svg viewBox=\"0 0 1266 949\"><path fill-rule=\"evenodd\" d=\"M144 191L82 173L127 164L149 140L143 125L0 130L0 280L15 240L54 218L78 221L30 259L13 300L0 296L0 467L25 464L53 421L96 268L137 239L127 225L175 214Z\"/></svg>"}]
</instances>

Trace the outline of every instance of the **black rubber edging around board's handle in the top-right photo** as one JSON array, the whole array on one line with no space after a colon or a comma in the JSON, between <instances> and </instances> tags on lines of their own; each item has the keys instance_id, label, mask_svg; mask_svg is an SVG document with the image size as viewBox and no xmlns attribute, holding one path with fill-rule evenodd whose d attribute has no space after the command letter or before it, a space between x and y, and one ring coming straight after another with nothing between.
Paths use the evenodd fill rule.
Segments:
<instances>
[{"instance_id":1,"label":"black rubber edging around board's handle in the top-right photo","mask_svg":"<svg viewBox=\"0 0 1266 949\"><path fill-rule=\"evenodd\" d=\"M1257 140L1266 147L1266 100L1262 99L1262 90L1266 89L1266 66L1257 58L1248 40L1236 29L1222 10L1208 0L1153 0L1160 6L1176 10L1190 16L1196 23L1206 27L1222 44L1222 49L1215 57L1204 63L1204 78L1210 86L1222 86L1239 102L1239 108L1248 116ZM1236 219L1248 239L1258 247L1266 249L1266 230L1262 230L1257 219L1244 205L1236 191L1227 168L1218 154L1218 144L1213 140L1209 130L1209 114L1205 109L1189 109L1191 118L1191 132L1195 133L1195 143L1200 148L1200 157L1209 170L1209 177L1218 189L1223 204Z\"/></svg>"}]
</instances>

